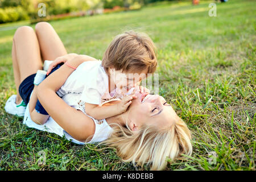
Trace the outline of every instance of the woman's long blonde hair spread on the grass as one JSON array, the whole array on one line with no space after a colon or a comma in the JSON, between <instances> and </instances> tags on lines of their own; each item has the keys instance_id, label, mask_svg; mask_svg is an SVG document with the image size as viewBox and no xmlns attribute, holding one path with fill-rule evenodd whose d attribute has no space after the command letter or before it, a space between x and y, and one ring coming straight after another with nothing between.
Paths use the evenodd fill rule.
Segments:
<instances>
[{"instance_id":1,"label":"woman's long blonde hair spread on the grass","mask_svg":"<svg viewBox=\"0 0 256 182\"><path fill-rule=\"evenodd\" d=\"M177 118L171 127L165 129L144 125L138 131L131 131L129 127L115 123L117 126L113 127L110 137L99 144L114 147L124 162L142 167L151 164L151 170L162 170L167 167L167 157L172 162L184 158L181 154L192 153L191 132L185 122Z\"/></svg>"}]
</instances>

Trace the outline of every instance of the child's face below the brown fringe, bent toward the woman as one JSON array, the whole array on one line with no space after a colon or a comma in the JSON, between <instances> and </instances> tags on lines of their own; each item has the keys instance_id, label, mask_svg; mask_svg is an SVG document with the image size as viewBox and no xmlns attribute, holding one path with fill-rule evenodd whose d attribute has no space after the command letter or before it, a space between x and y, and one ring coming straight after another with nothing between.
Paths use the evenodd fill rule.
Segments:
<instances>
[{"instance_id":1,"label":"child's face below the brown fringe, bent toward the woman","mask_svg":"<svg viewBox=\"0 0 256 182\"><path fill-rule=\"evenodd\" d=\"M122 93L127 93L131 88L139 85L146 78L146 73L146 70L142 73L123 73L122 70L116 71L115 69L110 69L110 79L113 80L119 90L122 90Z\"/></svg>"}]
</instances>

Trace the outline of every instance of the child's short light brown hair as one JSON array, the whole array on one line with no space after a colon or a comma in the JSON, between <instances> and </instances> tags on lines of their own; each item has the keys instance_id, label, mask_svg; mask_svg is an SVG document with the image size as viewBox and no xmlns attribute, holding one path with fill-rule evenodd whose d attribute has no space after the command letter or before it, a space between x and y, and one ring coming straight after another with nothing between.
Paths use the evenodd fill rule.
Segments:
<instances>
[{"instance_id":1,"label":"child's short light brown hair","mask_svg":"<svg viewBox=\"0 0 256 182\"><path fill-rule=\"evenodd\" d=\"M156 69L157 49L150 37L144 32L126 31L115 36L102 58L102 67L122 72L154 73Z\"/></svg>"}]
</instances>

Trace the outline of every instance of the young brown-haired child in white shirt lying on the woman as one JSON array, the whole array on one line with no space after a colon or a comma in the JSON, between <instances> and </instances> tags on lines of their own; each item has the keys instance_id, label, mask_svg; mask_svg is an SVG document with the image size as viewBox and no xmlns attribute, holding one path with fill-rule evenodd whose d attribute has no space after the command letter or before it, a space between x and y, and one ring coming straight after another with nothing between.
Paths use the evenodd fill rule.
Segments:
<instances>
[{"instance_id":1,"label":"young brown-haired child in white shirt lying on the woman","mask_svg":"<svg viewBox=\"0 0 256 182\"><path fill-rule=\"evenodd\" d=\"M127 110L135 98L126 96L127 92L139 85L148 73L154 73L156 65L156 48L152 40L144 33L127 31L115 36L102 61L85 61L74 68L75 71L56 93L66 101L67 97L79 98L69 102L71 106L84 101L86 114L94 119L109 118ZM114 98L121 101L101 106L102 102ZM46 122L48 113L42 111L39 101L35 110L31 113L32 120L41 124Z\"/></svg>"}]
</instances>

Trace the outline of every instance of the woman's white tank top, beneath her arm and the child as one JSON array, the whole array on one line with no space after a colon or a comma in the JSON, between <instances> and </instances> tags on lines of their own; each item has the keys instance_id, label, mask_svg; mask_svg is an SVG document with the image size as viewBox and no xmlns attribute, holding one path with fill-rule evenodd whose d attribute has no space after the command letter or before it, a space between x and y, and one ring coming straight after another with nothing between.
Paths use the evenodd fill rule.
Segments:
<instances>
[{"instance_id":1,"label":"woman's white tank top, beneath her arm and the child","mask_svg":"<svg viewBox=\"0 0 256 182\"><path fill-rule=\"evenodd\" d=\"M30 97L31 97L31 95L30 95ZM67 94L62 99L69 106L72 106L75 109L79 109L83 113L85 113L84 102L80 101L79 98L80 98L80 94ZM71 140L72 142L77 143L77 144L85 144L85 142L80 142L79 140L76 140L71 135L69 135L62 127L60 127L54 121L54 119L52 117L49 117L49 119L47 120L47 122L44 125L38 125L35 122L33 122L30 117L30 111L28 109L29 108L28 105L27 105L26 111L24 113L24 119L23 119L24 125L27 125L28 127L32 127L32 128L38 129L38 130L48 131L49 133L55 133L55 134L59 135L60 137L65 136L65 138L67 138L68 140ZM90 117L89 115L87 115L87 116ZM90 118L92 118L92 117L90 117ZM86 142L86 143L102 142L102 141L108 139L108 137L112 133L113 129L112 129L112 127L110 127L108 125L108 122L106 122L106 119L101 119L101 120L97 120L94 118L92 118L92 119L95 123L95 132L94 132L93 138L89 142Z\"/></svg>"}]
</instances>

